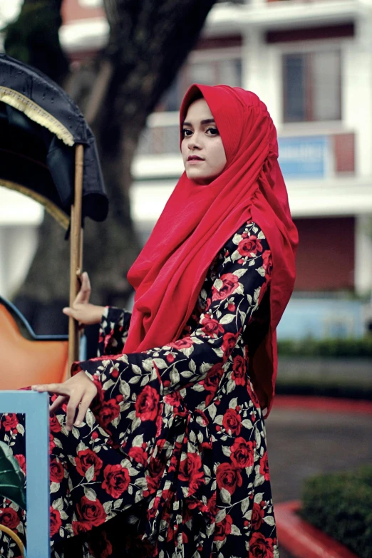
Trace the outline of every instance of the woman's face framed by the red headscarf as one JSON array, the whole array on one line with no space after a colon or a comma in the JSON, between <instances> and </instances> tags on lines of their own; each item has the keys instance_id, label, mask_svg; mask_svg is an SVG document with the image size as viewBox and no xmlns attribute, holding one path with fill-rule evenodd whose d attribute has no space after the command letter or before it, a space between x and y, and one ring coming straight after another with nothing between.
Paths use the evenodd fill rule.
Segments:
<instances>
[{"instance_id":1,"label":"woman's face framed by the red headscarf","mask_svg":"<svg viewBox=\"0 0 372 558\"><path fill-rule=\"evenodd\" d=\"M187 178L209 184L226 165L226 155L215 119L205 99L191 103L182 126L182 158Z\"/></svg>"}]
</instances>

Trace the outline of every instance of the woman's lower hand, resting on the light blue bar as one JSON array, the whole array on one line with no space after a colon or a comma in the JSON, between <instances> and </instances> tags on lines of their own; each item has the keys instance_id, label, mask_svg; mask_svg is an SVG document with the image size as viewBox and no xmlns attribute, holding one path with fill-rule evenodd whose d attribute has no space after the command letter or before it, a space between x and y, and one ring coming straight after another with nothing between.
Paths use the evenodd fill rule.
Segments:
<instances>
[{"instance_id":1,"label":"woman's lower hand, resting on the light blue bar","mask_svg":"<svg viewBox=\"0 0 372 558\"><path fill-rule=\"evenodd\" d=\"M73 378L69 378L63 383L43 383L31 386L31 388L34 391L48 391L48 393L56 393L58 395L56 401L53 401L49 408L51 413L68 401L66 411L67 430L72 430L73 425L80 425L98 391L93 381L88 378L85 372L78 372ZM79 408L78 416L75 422L73 422L77 408Z\"/></svg>"}]
</instances>

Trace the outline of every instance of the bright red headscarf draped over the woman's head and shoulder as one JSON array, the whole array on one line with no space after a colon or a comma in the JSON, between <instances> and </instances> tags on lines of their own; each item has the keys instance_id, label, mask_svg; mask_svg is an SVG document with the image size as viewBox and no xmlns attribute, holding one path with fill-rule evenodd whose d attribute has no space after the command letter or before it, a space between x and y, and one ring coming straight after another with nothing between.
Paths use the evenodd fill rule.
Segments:
<instances>
[{"instance_id":1,"label":"bright red headscarf draped over the woman's head and shoulder","mask_svg":"<svg viewBox=\"0 0 372 558\"><path fill-rule=\"evenodd\" d=\"M270 326L249 362L262 408L272 406L277 376L276 328L294 287L298 243L283 176L277 132L261 100L242 88L191 86L180 110L204 97L222 138L227 164L209 185L185 172L153 233L128 273L135 304L125 353L176 341L197 301L215 255L251 218L272 250Z\"/></svg>"}]
</instances>

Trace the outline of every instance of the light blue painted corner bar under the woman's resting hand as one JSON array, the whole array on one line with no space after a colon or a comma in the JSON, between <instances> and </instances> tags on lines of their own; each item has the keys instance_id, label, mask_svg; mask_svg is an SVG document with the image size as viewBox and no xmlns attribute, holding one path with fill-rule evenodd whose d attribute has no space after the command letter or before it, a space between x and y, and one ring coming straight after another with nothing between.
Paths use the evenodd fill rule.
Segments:
<instances>
[{"instance_id":1,"label":"light blue painted corner bar under the woman's resting hand","mask_svg":"<svg viewBox=\"0 0 372 558\"><path fill-rule=\"evenodd\" d=\"M26 415L27 556L50 557L49 397L36 391L0 391L0 413Z\"/></svg>"}]
</instances>

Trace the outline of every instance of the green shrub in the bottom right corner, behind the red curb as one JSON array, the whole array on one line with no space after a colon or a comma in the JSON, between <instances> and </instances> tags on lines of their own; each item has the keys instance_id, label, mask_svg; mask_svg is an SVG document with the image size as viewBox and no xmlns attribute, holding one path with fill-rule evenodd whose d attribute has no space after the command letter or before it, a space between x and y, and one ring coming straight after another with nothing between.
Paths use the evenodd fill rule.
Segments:
<instances>
[{"instance_id":1,"label":"green shrub in the bottom right corner, behind the red curb","mask_svg":"<svg viewBox=\"0 0 372 558\"><path fill-rule=\"evenodd\" d=\"M301 517L361 558L372 557L372 465L305 481Z\"/></svg>"}]
</instances>

